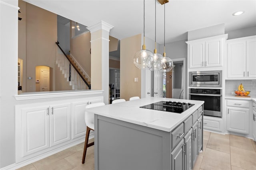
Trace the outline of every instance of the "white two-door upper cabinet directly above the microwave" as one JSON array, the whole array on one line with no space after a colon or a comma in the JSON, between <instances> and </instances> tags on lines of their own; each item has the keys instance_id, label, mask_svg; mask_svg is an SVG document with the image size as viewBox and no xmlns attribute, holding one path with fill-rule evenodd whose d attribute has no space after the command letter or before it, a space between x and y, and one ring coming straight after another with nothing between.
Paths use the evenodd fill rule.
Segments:
<instances>
[{"instance_id":1,"label":"white two-door upper cabinet directly above the microwave","mask_svg":"<svg viewBox=\"0 0 256 170\"><path fill-rule=\"evenodd\" d=\"M189 68L222 66L227 34L187 41Z\"/></svg>"}]
</instances>

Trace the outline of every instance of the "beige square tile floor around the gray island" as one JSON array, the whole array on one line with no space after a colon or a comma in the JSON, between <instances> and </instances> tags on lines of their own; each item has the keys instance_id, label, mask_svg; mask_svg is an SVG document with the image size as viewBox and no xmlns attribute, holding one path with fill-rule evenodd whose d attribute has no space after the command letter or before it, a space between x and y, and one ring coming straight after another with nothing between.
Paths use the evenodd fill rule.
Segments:
<instances>
[{"instance_id":1,"label":"beige square tile floor around the gray island","mask_svg":"<svg viewBox=\"0 0 256 170\"><path fill-rule=\"evenodd\" d=\"M87 149L84 164L83 148L80 143L19 170L94 170L94 147ZM203 150L193 170L256 170L256 142L251 139L204 131Z\"/></svg>"}]
</instances>

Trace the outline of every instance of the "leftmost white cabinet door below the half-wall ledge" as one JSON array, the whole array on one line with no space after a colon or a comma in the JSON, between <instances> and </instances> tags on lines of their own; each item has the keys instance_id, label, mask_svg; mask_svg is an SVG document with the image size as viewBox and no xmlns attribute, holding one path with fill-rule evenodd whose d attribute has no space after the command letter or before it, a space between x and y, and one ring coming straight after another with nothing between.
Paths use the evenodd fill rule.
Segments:
<instances>
[{"instance_id":1,"label":"leftmost white cabinet door below the half-wall ledge","mask_svg":"<svg viewBox=\"0 0 256 170\"><path fill-rule=\"evenodd\" d=\"M49 107L24 108L22 114L23 156L47 149L49 145Z\"/></svg>"}]
</instances>

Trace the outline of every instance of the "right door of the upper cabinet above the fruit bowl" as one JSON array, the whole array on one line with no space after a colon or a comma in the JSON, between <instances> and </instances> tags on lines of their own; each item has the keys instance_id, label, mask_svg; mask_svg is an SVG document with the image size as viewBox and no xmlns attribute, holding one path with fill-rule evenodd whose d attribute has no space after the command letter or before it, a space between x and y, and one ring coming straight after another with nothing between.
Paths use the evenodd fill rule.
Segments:
<instances>
[{"instance_id":1,"label":"right door of the upper cabinet above the fruit bowl","mask_svg":"<svg viewBox=\"0 0 256 170\"><path fill-rule=\"evenodd\" d=\"M246 41L246 77L256 78L256 38Z\"/></svg>"}]
</instances>

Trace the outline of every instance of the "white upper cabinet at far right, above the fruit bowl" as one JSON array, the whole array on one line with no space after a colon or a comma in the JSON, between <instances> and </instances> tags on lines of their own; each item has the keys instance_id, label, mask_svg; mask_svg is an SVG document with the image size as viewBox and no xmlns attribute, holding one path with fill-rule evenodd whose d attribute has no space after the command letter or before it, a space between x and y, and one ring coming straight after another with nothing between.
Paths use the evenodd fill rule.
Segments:
<instances>
[{"instance_id":1,"label":"white upper cabinet at far right, above the fruit bowl","mask_svg":"<svg viewBox=\"0 0 256 170\"><path fill-rule=\"evenodd\" d=\"M256 36L228 41L227 78L256 78Z\"/></svg>"}]
</instances>

